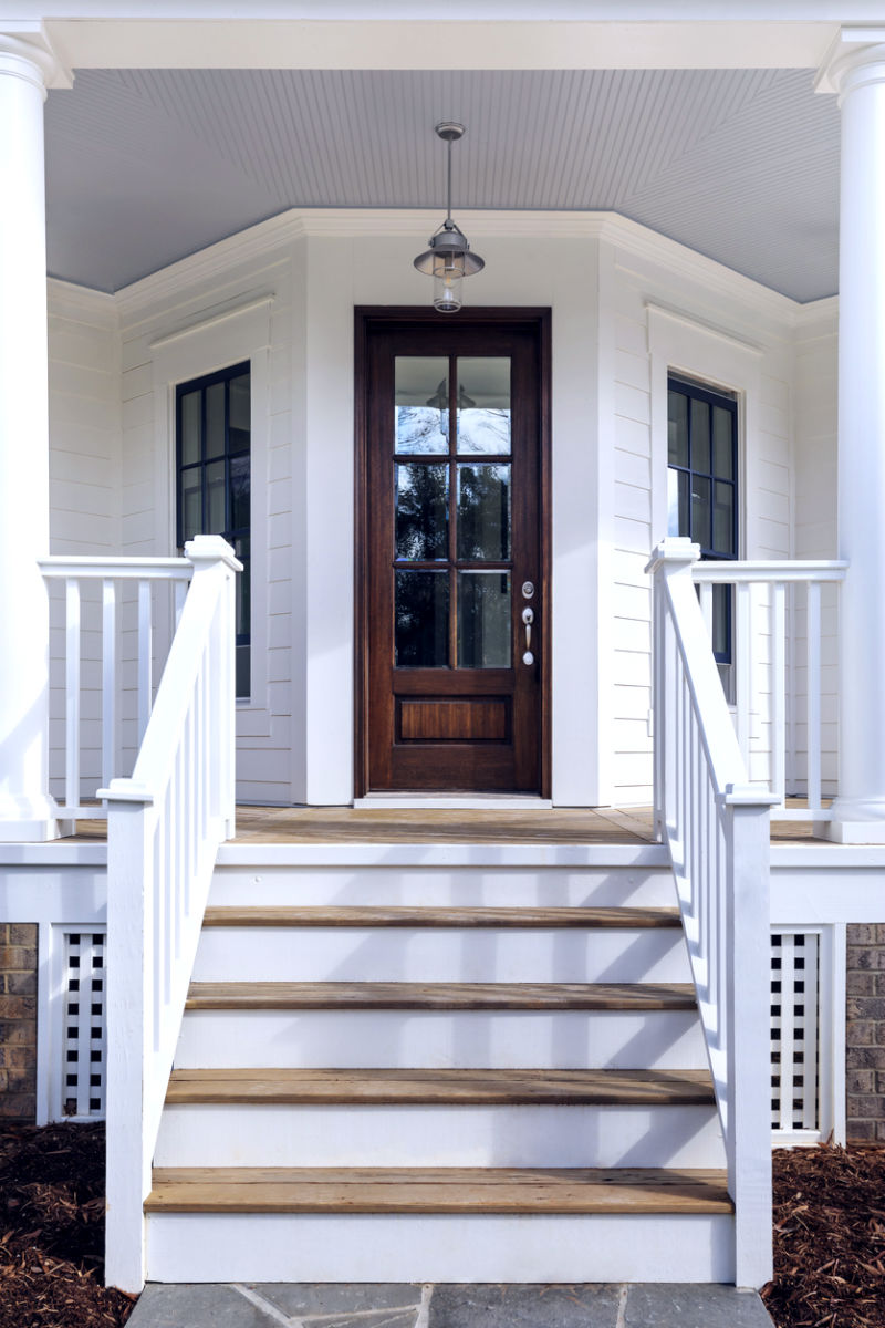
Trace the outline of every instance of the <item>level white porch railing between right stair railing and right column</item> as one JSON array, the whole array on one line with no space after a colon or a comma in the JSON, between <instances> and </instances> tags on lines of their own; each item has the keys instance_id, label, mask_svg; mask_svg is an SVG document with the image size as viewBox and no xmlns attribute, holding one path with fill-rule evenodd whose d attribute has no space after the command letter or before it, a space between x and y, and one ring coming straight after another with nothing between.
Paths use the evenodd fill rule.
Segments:
<instances>
[{"instance_id":1,"label":"level white porch railing between right stair railing and right column","mask_svg":"<svg viewBox=\"0 0 885 1328\"><path fill-rule=\"evenodd\" d=\"M713 587L732 587L738 744L752 782L764 782L775 794L774 819L829 821L823 778L825 758L833 766L836 761L837 688L835 679L825 685L824 673L835 669L836 604L827 606L832 612L824 624L821 594L832 586L835 600L847 567L844 562L697 562L693 567L709 633ZM833 661L827 661L825 641ZM825 732L832 734L829 745ZM831 785L835 773L833 768ZM789 794L804 794L808 805L788 807Z\"/></svg>"}]
</instances>

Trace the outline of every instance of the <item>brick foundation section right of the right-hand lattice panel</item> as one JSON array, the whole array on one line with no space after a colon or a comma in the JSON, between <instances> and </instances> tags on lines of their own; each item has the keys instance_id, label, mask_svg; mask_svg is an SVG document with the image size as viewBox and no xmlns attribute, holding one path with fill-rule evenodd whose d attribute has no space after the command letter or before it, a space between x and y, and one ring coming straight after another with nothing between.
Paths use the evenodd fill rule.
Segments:
<instances>
[{"instance_id":1,"label":"brick foundation section right of the right-hand lattice panel","mask_svg":"<svg viewBox=\"0 0 885 1328\"><path fill-rule=\"evenodd\" d=\"M847 1133L885 1143L885 924L849 924L847 987Z\"/></svg>"}]
</instances>

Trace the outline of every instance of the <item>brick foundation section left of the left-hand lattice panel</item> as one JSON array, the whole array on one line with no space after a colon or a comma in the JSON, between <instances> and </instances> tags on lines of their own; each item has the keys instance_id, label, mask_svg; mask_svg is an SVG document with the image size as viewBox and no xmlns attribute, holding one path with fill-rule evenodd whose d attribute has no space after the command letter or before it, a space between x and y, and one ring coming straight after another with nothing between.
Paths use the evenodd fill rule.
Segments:
<instances>
[{"instance_id":1,"label":"brick foundation section left of the left-hand lattice panel","mask_svg":"<svg viewBox=\"0 0 885 1328\"><path fill-rule=\"evenodd\" d=\"M37 924L0 923L0 1121L37 1112Z\"/></svg>"}]
</instances>

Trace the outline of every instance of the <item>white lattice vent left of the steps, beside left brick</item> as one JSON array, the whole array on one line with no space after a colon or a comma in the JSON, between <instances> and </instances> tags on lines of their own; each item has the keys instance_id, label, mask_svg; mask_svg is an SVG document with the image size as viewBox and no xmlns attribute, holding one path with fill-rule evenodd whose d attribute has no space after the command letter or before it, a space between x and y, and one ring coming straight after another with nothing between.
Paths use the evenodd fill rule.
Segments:
<instances>
[{"instance_id":1,"label":"white lattice vent left of the steps, beside left brick","mask_svg":"<svg viewBox=\"0 0 885 1328\"><path fill-rule=\"evenodd\" d=\"M61 1076L65 1116L96 1118L105 1114L105 932L66 931Z\"/></svg>"}]
</instances>

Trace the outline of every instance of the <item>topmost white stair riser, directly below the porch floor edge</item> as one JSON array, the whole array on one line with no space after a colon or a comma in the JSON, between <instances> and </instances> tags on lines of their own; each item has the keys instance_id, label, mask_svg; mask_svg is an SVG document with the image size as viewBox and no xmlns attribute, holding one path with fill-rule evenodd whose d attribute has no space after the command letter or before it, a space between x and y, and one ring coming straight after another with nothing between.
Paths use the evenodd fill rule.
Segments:
<instances>
[{"instance_id":1,"label":"topmost white stair riser, directly below the porch floor edge","mask_svg":"<svg viewBox=\"0 0 885 1328\"><path fill-rule=\"evenodd\" d=\"M425 849L425 853L427 850ZM443 855L446 850L437 850ZM210 904L671 907L665 867L216 867Z\"/></svg>"}]
</instances>

